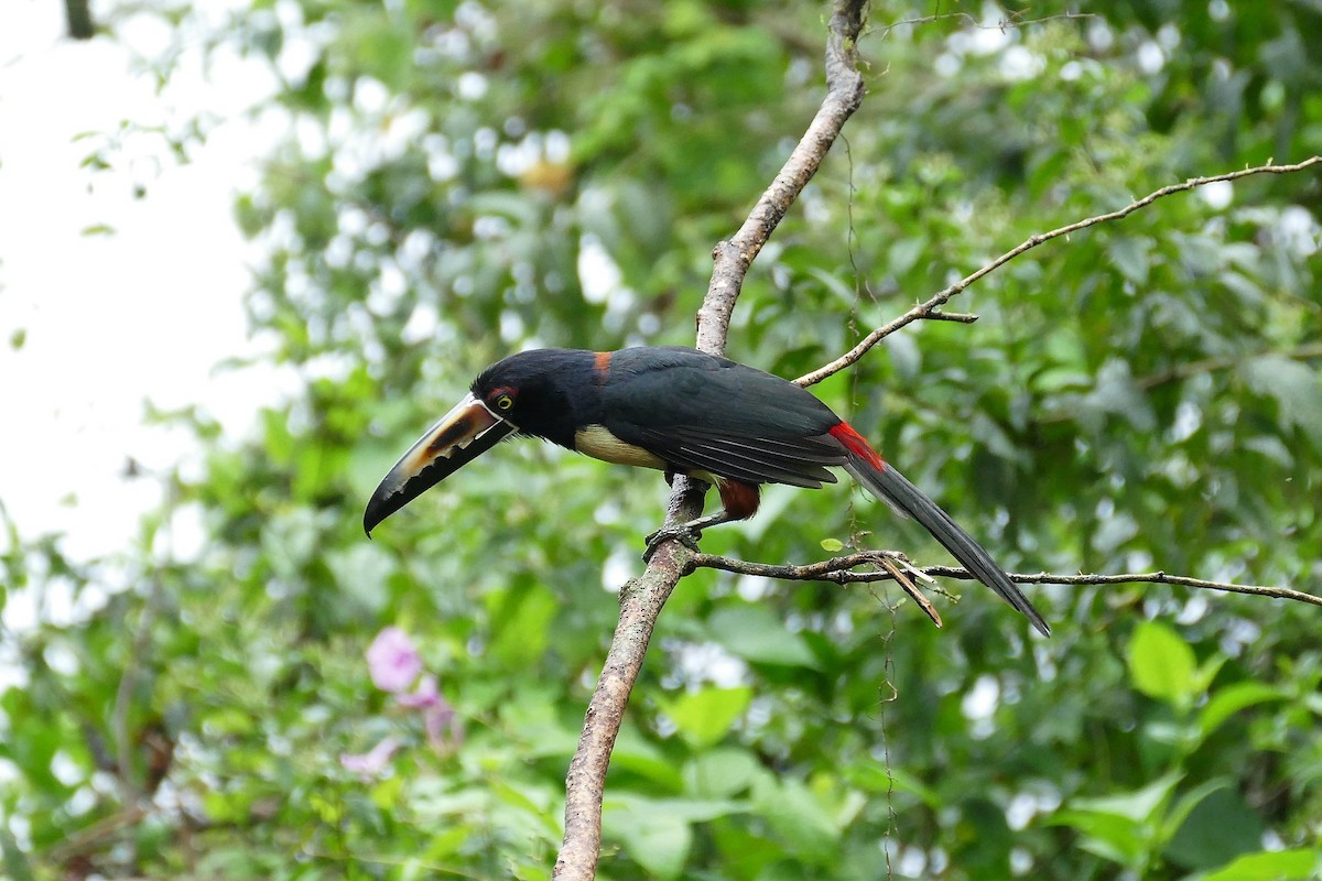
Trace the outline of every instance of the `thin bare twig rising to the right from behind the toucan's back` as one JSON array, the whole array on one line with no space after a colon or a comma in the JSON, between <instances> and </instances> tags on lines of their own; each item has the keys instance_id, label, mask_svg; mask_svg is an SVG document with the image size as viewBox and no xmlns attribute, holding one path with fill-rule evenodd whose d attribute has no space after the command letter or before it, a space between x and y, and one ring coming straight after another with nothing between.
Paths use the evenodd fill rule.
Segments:
<instances>
[{"instance_id":1,"label":"thin bare twig rising to the right from behind the toucan's back","mask_svg":"<svg viewBox=\"0 0 1322 881\"><path fill-rule=\"evenodd\" d=\"M977 272L964 276L951 287L933 295L925 302L920 302L919 305L914 306L912 309L910 309L900 317L895 318L894 321L890 321L882 325L880 328L876 328L866 337L863 337L857 346L846 351L836 361L822 367L818 367L810 374L804 374L795 382L800 386L812 386L813 383L820 383L822 379L826 379L828 376L839 372L841 370L849 367L855 361L867 354L869 349L875 346L886 337L891 335L900 328L910 325L920 318L931 318L933 317L933 314L939 316L940 313L937 310L956 296L964 293L965 288L968 288L970 284L973 284L982 276L989 275L995 269L999 269L1010 260L1015 259L1025 251L1038 247L1043 242L1050 242L1051 239L1059 239L1063 235L1069 235L1071 232L1077 232L1079 230L1085 230L1089 226L1097 226L1099 223L1118 221L1121 218L1129 217L1130 214L1133 214L1140 209L1147 207L1159 198L1165 198L1175 193L1183 193L1186 190L1198 189L1199 186L1206 186L1207 184L1218 184L1222 181L1236 181L1241 177L1248 177L1249 174L1290 174L1293 172L1302 172L1303 169L1311 168L1313 165L1318 165L1319 162L1322 162L1322 156L1313 156L1310 159L1303 160L1302 162L1296 162L1293 165L1266 164L1266 165L1257 165L1253 168L1240 169L1239 172L1229 172L1227 174L1215 174L1212 177L1191 177L1183 184L1171 184L1170 186L1163 186L1159 190L1154 190L1147 195L1145 195L1144 198L1130 202L1122 209L1108 211L1105 214L1099 214L1096 217L1089 217L1084 221L1077 221L1075 223L1069 223L1067 226L1051 230L1050 232L1039 232L1038 235L1032 235L1021 242L1017 247L1010 248L997 259L992 260Z\"/></svg>"}]
</instances>

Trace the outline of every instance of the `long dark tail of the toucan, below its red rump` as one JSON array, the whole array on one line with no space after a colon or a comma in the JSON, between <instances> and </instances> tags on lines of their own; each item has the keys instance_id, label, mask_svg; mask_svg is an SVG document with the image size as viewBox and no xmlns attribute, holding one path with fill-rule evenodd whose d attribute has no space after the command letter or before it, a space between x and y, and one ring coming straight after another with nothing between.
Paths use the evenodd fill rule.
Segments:
<instances>
[{"instance_id":1,"label":"long dark tail of the toucan, below its red rump","mask_svg":"<svg viewBox=\"0 0 1322 881\"><path fill-rule=\"evenodd\" d=\"M908 514L921 523L965 569L978 581L1001 594L1011 606L1023 613L1043 637L1051 635L1046 619L1032 608L1029 598L1014 585L1005 569L995 564L992 555L973 540L951 515L936 506L936 502L923 495L923 490L908 482L908 478L895 470L890 462L882 462L878 469L866 457L846 446L849 461L845 470L863 485L869 493L882 499L896 511Z\"/></svg>"}]
</instances>

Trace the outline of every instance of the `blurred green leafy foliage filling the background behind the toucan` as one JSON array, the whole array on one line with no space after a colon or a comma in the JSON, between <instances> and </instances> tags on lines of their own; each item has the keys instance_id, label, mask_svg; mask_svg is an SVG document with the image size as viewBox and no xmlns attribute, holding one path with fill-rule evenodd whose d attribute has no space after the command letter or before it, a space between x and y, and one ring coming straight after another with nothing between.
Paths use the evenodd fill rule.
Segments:
<instances>
[{"instance_id":1,"label":"blurred green leafy foliage filling the background behind the toucan","mask_svg":"<svg viewBox=\"0 0 1322 881\"><path fill-rule=\"evenodd\" d=\"M1315 4L1054 12L873 4L870 94L754 265L731 357L806 372L1034 232L1322 152ZM665 485L522 442L373 543L362 502L509 351L691 342L713 244L820 99L828 9L99 18L143 15L279 83L254 114L287 136L237 217L259 254L254 333L299 391L249 437L206 402L161 415L205 468L165 478L169 505L114 560L9 524L8 594L100 600L5 637L7 872L547 878L612 592ZM952 305L977 324L911 326L814 391L1011 571L1318 593L1319 211L1315 172L1163 199L978 283ZM765 495L703 548L947 559L843 485ZM194 556L171 551L178 516L205 524ZM1317 877L1315 606L1030 594L1050 641L973 588L937 598L939 631L898 590L686 579L613 756L600 877ZM387 626L435 695L373 684Z\"/></svg>"}]
</instances>

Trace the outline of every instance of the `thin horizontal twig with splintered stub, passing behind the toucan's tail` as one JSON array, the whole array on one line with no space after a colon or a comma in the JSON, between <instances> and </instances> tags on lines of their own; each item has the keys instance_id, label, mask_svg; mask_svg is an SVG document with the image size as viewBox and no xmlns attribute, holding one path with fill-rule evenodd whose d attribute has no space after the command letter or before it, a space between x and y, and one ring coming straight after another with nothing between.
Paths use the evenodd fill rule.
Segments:
<instances>
[{"instance_id":1,"label":"thin horizontal twig with splintered stub, passing behind the toucan's tail","mask_svg":"<svg viewBox=\"0 0 1322 881\"><path fill-rule=\"evenodd\" d=\"M732 557L715 556L713 553L694 553L689 565L694 569L720 569L735 575L752 575L763 579L779 579L781 581L832 581L834 584L858 584L870 581L892 581L895 573L890 567L899 565L900 571L917 573L928 579L961 579L976 581L977 577L968 569L952 565L910 567L908 560L898 551L861 551L845 556L832 557L821 563L806 565L777 565L772 563L750 563L748 560L735 560ZM886 571L871 569L867 572L854 572L859 565L880 565ZM691 569L690 569L691 571ZM1206 581L1191 579L1183 575L1167 575L1165 572L1144 572L1125 575L1052 575L1038 572L1036 575L1009 572L1010 580L1015 584L1175 584L1185 588L1200 588L1204 590L1224 590L1227 593L1248 593L1257 597L1272 597L1274 600L1294 600L1314 606L1322 606L1322 597L1292 588L1272 588L1257 584L1228 584L1223 581ZM906 590L912 596L912 590ZM919 604L921 605L921 604ZM927 609L924 609L927 612ZM929 613L928 613L929 614ZM940 622L937 623L940 626Z\"/></svg>"}]
</instances>

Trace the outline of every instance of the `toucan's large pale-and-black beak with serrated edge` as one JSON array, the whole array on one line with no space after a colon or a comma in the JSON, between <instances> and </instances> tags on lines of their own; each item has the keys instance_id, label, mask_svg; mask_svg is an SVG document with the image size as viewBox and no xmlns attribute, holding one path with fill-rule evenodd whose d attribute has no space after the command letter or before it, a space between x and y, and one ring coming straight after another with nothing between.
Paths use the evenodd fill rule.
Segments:
<instances>
[{"instance_id":1,"label":"toucan's large pale-and-black beak with serrated edge","mask_svg":"<svg viewBox=\"0 0 1322 881\"><path fill-rule=\"evenodd\" d=\"M516 429L469 392L390 469L362 514L368 538L383 519L502 441Z\"/></svg>"}]
</instances>

